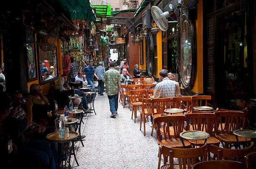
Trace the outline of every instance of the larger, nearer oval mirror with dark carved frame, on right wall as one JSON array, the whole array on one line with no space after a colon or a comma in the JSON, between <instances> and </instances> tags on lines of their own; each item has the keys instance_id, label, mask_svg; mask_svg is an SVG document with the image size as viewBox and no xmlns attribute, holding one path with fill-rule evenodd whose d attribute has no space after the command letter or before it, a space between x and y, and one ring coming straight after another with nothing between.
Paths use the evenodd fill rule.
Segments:
<instances>
[{"instance_id":1,"label":"larger, nearer oval mirror with dark carved frame, on right wall","mask_svg":"<svg viewBox=\"0 0 256 169\"><path fill-rule=\"evenodd\" d=\"M194 26L186 15L182 15L178 30L178 69L182 86L191 90L195 82L195 32Z\"/></svg>"}]
</instances>

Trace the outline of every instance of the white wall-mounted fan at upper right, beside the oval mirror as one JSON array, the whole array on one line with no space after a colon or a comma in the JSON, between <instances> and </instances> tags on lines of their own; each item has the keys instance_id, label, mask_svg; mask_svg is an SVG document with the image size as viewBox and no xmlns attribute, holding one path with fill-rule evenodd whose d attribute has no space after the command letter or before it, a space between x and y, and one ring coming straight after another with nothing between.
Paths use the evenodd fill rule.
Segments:
<instances>
[{"instance_id":1,"label":"white wall-mounted fan at upper right, beside the oval mirror","mask_svg":"<svg viewBox=\"0 0 256 169\"><path fill-rule=\"evenodd\" d=\"M172 4L169 5L172 10ZM169 12L162 12L162 10L157 6L151 7L151 15L156 22L156 25L162 30L168 30L168 23L177 22L177 21L168 21L167 17L169 17Z\"/></svg>"}]
</instances>

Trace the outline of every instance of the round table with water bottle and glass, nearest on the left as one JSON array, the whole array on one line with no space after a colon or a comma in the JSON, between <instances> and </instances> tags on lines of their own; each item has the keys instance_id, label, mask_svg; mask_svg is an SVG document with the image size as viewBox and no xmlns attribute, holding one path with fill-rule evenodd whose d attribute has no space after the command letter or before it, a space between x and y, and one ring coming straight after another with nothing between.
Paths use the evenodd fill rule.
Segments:
<instances>
[{"instance_id":1,"label":"round table with water bottle and glass, nearest on the left","mask_svg":"<svg viewBox=\"0 0 256 169\"><path fill-rule=\"evenodd\" d=\"M63 168L63 162L65 164L67 163L69 165L69 168L71 168L70 159L71 155L74 155L74 159L77 162L77 157L74 152L74 140L77 138L77 132L69 131L69 137L65 137L64 139L60 139L59 136L56 135L55 132L50 133L46 136L46 138L51 142L57 142L60 144L61 150L59 151L59 154L57 154L54 158L56 159L56 162L59 165L61 165L61 168ZM72 142L72 146L69 148L69 143ZM60 160L60 164L58 163ZM78 162L77 165L79 166Z\"/></svg>"}]
</instances>

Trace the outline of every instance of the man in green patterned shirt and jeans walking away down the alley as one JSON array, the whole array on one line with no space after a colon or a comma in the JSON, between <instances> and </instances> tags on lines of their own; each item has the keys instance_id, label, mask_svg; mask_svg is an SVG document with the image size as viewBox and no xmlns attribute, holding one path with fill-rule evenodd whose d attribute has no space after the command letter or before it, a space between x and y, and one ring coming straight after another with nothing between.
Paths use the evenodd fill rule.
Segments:
<instances>
[{"instance_id":1,"label":"man in green patterned shirt and jeans walking away down the alley","mask_svg":"<svg viewBox=\"0 0 256 169\"><path fill-rule=\"evenodd\" d=\"M118 92L121 94L121 75L118 70L114 69L115 62L110 62L110 70L105 72L103 81L105 82L111 112L111 118L116 118L118 110Z\"/></svg>"}]
</instances>

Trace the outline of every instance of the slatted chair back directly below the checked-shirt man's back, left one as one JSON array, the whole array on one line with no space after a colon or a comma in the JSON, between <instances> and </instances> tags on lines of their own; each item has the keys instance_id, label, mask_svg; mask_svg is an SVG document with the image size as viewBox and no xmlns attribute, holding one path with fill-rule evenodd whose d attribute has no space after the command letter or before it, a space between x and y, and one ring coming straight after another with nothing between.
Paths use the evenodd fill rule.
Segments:
<instances>
[{"instance_id":1,"label":"slatted chair back directly below the checked-shirt man's back, left one","mask_svg":"<svg viewBox=\"0 0 256 169\"><path fill-rule=\"evenodd\" d=\"M171 97L165 97L165 98L156 98L151 99L152 105L156 107L156 112L152 112L154 114L163 114L164 109L171 108L172 104L172 98Z\"/></svg>"}]
</instances>

